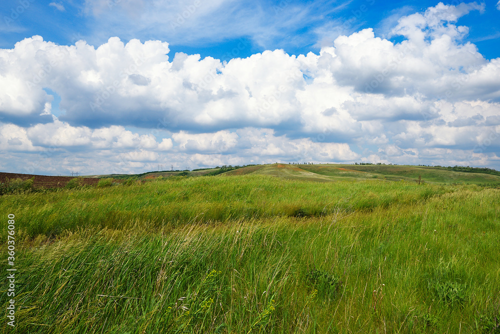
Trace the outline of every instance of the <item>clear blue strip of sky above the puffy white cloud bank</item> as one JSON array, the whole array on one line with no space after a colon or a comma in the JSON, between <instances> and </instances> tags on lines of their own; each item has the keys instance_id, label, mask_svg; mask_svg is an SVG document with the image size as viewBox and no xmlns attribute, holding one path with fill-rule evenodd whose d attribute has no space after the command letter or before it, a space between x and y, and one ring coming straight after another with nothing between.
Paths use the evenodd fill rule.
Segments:
<instances>
[{"instance_id":1,"label":"clear blue strip of sky above the puffy white cloud bank","mask_svg":"<svg viewBox=\"0 0 500 334\"><path fill-rule=\"evenodd\" d=\"M136 5L143 10L141 17L132 15L121 8L124 3ZM162 2L162 1L160 1ZM164 1L174 2L174 1ZM200 0L200 3L203 2ZM23 38L32 35L41 35L45 40L50 40L61 45L70 45L78 39L85 39L94 46L107 41L110 36L118 36L122 41L137 38L142 41L149 39L160 39L168 41L172 52L182 51L185 53L199 53L201 56L212 56L221 58L231 54L241 39L245 41L244 50L239 50L238 56L248 56L265 49L282 48L289 54L306 54L309 51L318 52L319 45L315 29L320 27L331 27L331 37L339 33L350 34L363 28L371 27L378 36L386 36L391 24L402 15L408 15L416 11L425 10L437 4L436 1L376 1L376 0L352 0L352 1L227 1L230 10L214 18L206 17L206 20L220 19L215 21L219 28L228 30L230 33L220 35L218 30L213 34L199 35L194 31L188 38L182 36L182 26L171 28L171 23L177 23L176 14L182 14L194 1L185 1L180 6L179 12L170 14L165 20L165 27L155 29L156 23L151 27L140 24L135 26L134 22L147 20L148 1L126 1L126 0L104 0L104 1L36 1L17 0L3 1L0 11L3 16L1 48L11 48ZM444 4L457 4L462 1L442 1ZM53 5L47 5L53 3ZM103 3L96 5L95 3ZM495 1L485 1L484 11L471 12L460 19L460 24L469 27L466 40L475 43L486 58L498 56L498 44L500 43L500 25L498 24L499 12L495 10ZM200 6L203 6L201 3ZM364 6L364 7L363 7ZM95 9L98 7L99 9ZM146 8L144 8L146 7ZM167 7L167 6L164 6ZM183 8L184 7L184 8ZM22 9L19 9L22 8ZM94 9L92 9L94 8ZM196 8L197 9L197 8ZM92 11L95 11L93 13ZM258 17L261 22L247 29L234 29L237 22L233 21L233 15L246 14L248 11L259 11ZM297 12L305 12L307 15L298 20L293 17ZM18 16L18 17L17 17ZM168 15L167 15L168 16ZM187 16L187 15L185 15ZM284 16L284 18L283 18ZM5 17L7 17L7 22ZM15 18L17 17L17 18ZM110 17L113 17L109 20ZM173 17L173 19L172 19ZM192 17L192 16L191 16ZM191 17L186 17L189 20ZM13 20L9 20L15 18ZM281 20L281 24L273 27L272 23L269 36L259 37L262 29L269 22ZM49 24L47 24L49 22ZM143 22L142 22L143 23ZM105 28L100 30L101 28ZM389 38L397 40L397 38Z\"/></svg>"}]
</instances>

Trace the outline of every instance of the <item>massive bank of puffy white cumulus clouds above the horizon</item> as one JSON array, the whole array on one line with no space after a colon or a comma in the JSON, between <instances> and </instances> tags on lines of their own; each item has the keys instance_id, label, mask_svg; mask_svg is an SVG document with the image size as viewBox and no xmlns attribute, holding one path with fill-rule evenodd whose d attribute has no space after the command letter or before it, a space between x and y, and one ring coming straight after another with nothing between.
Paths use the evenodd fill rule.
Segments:
<instances>
[{"instance_id":1,"label":"massive bank of puffy white cumulus clouds above the horizon","mask_svg":"<svg viewBox=\"0 0 500 334\"><path fill-rule=\"evenodd\" d=\"M213 2L191 15L222 4L236 5ZM96 16L131 15L123 11L134 5L151 6L86 2ZM77 154L82 166L89 157L102 168L135 171L159 162L183 169L276 160L421 163L450 155L464 161L489 140L473 161L498 164L500 140L481 134L500 130L500 58L484 58L463 41L467 28L455 24L483 9L439 3L403 16L391 29L400 42L366 28L339 35L318 54L275 49L227 60L171 54L159 40L111 37L94 47L32 36L0 49L0 147L16 156L51 151L44 161L60 166ZM53 170L45 162L37 168Z\"/></svg>"}]
</instances>

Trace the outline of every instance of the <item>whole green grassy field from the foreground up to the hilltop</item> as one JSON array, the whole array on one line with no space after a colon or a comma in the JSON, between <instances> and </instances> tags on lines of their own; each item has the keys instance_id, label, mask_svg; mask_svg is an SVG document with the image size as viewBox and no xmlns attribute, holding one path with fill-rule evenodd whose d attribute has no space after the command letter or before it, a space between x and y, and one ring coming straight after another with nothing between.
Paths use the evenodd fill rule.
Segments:
<instances>
[{"instance_id":1,"label":"whole green grassy field from the foreground up to the hilltop","mask_svg":"<svg viewBox=\"0 0 500 334\"><path fill-rule=\"evenodd\" d=\"M0 332L500 332L494 175L322 166L1 196Z\"/></svg>"}]
</instances>

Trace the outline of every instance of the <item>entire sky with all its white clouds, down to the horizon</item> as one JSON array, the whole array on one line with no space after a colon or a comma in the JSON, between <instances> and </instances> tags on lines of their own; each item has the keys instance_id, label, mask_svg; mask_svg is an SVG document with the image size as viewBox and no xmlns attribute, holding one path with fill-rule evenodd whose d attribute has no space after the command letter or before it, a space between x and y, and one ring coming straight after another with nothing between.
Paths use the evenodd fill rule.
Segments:
<instances>
[{"instance_id":1,"label":"entire sky with all its white clouds, down to the horizon","mask_svg":"<svg viewBox=\"0 0 500 334\"><path fill-rule=\"evenodd\" d=\"M500 2L15 0L0 13L4 171L500 169Z\"/></svg>"}]
</instances>

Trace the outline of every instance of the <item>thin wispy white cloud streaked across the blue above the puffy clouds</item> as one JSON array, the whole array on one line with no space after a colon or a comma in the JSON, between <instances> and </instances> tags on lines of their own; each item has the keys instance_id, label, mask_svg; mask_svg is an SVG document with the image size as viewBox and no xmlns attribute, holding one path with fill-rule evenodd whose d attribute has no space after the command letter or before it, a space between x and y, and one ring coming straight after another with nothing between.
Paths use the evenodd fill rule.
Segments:
<instances>
[{"instance_id":1,"label":"thin wispy white cloud streaked across the blue above the puffy clouds","mask_svg":"<svg viewBox=\"0 0 500 334\"><path fill-rule=\"evenodd\" d=\"M292 0L85 0L82 11L93 19L87 40L96 44L109 35L130 39L140 34L175 45L199 46L245 36L262 48L302 47L316 37L318 21L349 2L332 6L331 1Z\"/></svg>"}]
</instances>

